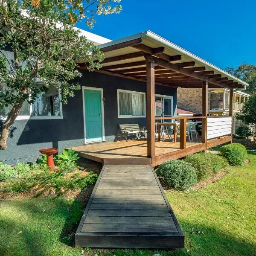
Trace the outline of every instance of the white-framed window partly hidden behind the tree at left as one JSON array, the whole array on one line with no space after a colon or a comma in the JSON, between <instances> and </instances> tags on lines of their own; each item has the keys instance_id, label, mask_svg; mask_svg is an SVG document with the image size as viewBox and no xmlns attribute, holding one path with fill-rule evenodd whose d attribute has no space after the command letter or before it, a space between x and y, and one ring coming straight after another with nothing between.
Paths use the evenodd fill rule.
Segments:
<instances>
[{"instance_id":1,"label":"white-framed window partly hidden behind the tree at left","mask_svg":"<svg viewBox=\"0 0 256 256\"><path fill-rule=\"evenodd\" d=\"M0 89L3 89L0 87ZM5 120L12 107L0 109L0 120ZM47 93L40 93L32 105L25 101L16 120L61 119L61 96L56 87L49 87Z\"/></svg>"}]
</instances>

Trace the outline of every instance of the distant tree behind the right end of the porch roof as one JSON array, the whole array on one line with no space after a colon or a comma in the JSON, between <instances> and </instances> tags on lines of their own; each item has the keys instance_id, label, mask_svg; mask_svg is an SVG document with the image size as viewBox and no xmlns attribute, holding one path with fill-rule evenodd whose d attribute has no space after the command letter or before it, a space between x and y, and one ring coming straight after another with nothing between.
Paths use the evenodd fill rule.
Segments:
<instances>
[{"instance_id":1,"label":"distant tree behind the right end of the porch roof","mask_svg":"<svg viewBox=\"0 0 256 256\"><path fill-rule=\"evenodd\" d=\"M249 84L247 93L256 93L256 66L253 64L242 63L236 69L234 67L226 67L228 73Z\"/></svg>"}]
</instances>

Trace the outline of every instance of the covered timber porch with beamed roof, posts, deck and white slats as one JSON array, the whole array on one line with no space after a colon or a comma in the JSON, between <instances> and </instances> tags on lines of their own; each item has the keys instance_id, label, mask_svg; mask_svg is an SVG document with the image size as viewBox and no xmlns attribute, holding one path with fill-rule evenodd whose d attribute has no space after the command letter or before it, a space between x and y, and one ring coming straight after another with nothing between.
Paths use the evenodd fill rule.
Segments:
<instances>
[{"instance_id":1,"label":"covered timber porch with beamed roof, posts, deck and white slats","mask_svg":"<svg viewBox=\"0 0 256 256\"><path fill-rule=\"evenodd\" d=\"M233 93L246 83L224 70L202 60L192 53L155 35L150 31L111 41L99 46L105 53L103 67L96 72L146 83L146 130L147 140L129 140L111 143L91 144L76 147L80 156L103 164L152 164L157 166L169 159L177 159L215 145L232 141ZM80 64L87 69L87 64ZM156 113L155 85L177 88L202 88L201 137L187 141L187 116L166 116ZM208 111L208 89L228 88L230 90L229 116L210 117ZM157 122L180 123L179 139L158 141L155 139ZM118 124L116 124L118 125Z\"/></svg>"}]
</instances>

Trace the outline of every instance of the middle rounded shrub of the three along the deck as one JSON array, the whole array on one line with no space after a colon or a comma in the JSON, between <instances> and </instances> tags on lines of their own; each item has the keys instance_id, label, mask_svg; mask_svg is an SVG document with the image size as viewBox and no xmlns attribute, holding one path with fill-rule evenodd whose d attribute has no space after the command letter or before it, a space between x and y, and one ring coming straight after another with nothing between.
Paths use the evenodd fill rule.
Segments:
<instances>
[{"instance_id":1,"label":"middle rounded shrub of the three along the deck","mask_svg":"<svg viewBox=\"0 0 256 256\"><path fill-rule=\"evenodd\" d=\"M211 152L191 154L186 156L184 160L196 169L198 181L212 177L213 174L220 172L228 166L228 162L224 157Z\"/></svg>"}]
</instances>

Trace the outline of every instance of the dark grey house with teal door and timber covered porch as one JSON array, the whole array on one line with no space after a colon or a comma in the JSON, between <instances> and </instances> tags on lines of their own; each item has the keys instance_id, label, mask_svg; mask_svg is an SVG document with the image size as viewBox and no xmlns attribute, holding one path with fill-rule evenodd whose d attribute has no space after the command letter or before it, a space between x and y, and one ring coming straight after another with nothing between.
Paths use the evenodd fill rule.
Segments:
<instances>
[{"instance_id":1,"label":"dark grey house with teal door and timber covered porch","mask_svg":"<svg viewBox=\"0 0 256 256\"><path fill-rule=\"evenodd\" d=\"M90 73L79 63L83 76L77 81L82 88L67 105L61 104L55 88L41 93L32 105L24 103L7 150L0 151L1 161L35 162L39 148L58 147L75 148L80 156L103 164L133 161L156 166L232 140L232 109L222 118L207 117L208 94L215 88L229 89L233 105L234 90L246 88L244 81L150 31L115 41L83 33L104 52L102 69ZM12 58L12 52L4 51ZM193 95L201 98L198 141L186 141L187 116L177 116L177 88L200 90ZM7 113L1 111L2 120ZM157 140L155 123L170 119L180 120L179 138L175 143ZM145 127L147 140L126 142L119 136L120 124Z\"/></svg>"}]
</instances>

